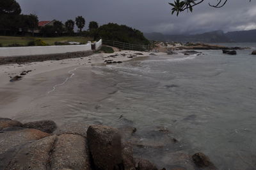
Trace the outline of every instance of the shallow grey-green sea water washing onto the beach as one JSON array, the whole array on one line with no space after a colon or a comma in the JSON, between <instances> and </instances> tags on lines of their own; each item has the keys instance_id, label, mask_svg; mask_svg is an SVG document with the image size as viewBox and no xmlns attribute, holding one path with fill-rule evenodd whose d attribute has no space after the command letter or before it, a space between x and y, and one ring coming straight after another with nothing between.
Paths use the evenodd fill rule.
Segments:
<instances>
[{"instance_id":1,"label":"shallow grey-green sea water washing onto the beach","mask_svg":"<svg viewBox=\"0 0 256 170\"><path fill-rule=\"evenodd\" d=\"M253 49L237 50L236 56L198 50L203 54L76 68L65 84L45 84L47 100L38 97L22 118L31 112L35 120L59 124L136 127L147 147L135 147L134 155L159 167L168 167L173 152L201 151L219 169L256 169L256 56L250 55L256 45L232 46ZM167 135L159 134L165 130Z\"/></svg>"}]
</instances>

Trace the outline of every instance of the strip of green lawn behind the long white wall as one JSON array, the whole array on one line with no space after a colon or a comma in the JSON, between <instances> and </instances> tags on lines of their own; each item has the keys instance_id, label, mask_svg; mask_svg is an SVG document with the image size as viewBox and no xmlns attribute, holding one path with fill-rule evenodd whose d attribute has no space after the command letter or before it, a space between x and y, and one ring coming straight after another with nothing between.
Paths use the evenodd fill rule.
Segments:
<instances>
[{"instance_id":1,"label":"strip of green lawn behind the long white wall","mask_svg":"<svg viewBox=\"0 0 256 170\"><path fill-rule=\"evenodd\" d=\"M0 36L0 43L3 47L13 44L19 43L20 45L27 45L28 42L31 42L35 39L40 38L45 43L49 45L54 45L54 42L80 42L87 43L88 41L92 41L90 37L83 36L60 36L60 37L29 37L29 36Z\"/></svg>"}]
</instances>

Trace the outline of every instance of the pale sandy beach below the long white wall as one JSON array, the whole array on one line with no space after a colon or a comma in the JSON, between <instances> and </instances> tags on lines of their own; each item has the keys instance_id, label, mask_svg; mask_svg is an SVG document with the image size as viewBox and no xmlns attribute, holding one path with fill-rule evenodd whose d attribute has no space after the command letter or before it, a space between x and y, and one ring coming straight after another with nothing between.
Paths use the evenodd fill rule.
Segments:
<instances>
[{"instance_id":1,"label":"pale sandy beach below the long white wall","mask_svg":"<svg viewBox=\"0 0 256 170\"><path fill-rule=\"evenodd\" d=\"M139 52L141 54L134 55L136 53L138 53L138 51L123 50L113 54L93 54L92 56L84 58L1 65L1 117L27 120L28 115L22 116L22 114L26 112L26 109L34 104L42 104L40 107L44 108L44 102L50 104L54 102L50 99L51 96L49 94L60 86L65 86L76 74L77 69L87 70L88 79L90 79L92 78L92 76L90 76L92 72L90 71L93 66L122 65L120 61L124 62L131 59L145 58L149 54L148 52ZM106 61L114 63L106 64ZM116 63L118 61L119 63ZM29 72L26 73L27 71ZM11 77L20 75L22 72L26 73L26 75L22 75L22 79L10 82ZM38 108L38 106L35 105L34 107ZM36 120L35 115L40 115L38 112L34 112L33 114L34 116L29 117L29 119L35 118ZM42 113L40 116L44 116L44 114ZM51 119L51 116L49 119Z\"/></svg>"}]
</instances>

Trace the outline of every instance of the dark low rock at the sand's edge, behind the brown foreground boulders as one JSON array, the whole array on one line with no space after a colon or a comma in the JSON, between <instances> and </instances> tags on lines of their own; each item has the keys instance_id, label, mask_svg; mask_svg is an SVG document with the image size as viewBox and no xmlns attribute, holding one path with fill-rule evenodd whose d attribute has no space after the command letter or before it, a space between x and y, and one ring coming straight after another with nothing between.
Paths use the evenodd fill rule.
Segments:
<instances>
[{"instance_id":1,"label":"dark low rock at the sand's edge, behind the brown foreground boulders","mask_svg":"<svg viewBox=\"0 0 256 170\"><path fill-rule=\"evenodd\" d=\"M35 128L37 130L41 130L42 132L51 134L57 128L57 125L52 120L42 120L24 123L22 127Z\"/></svg>"}]
</instances>

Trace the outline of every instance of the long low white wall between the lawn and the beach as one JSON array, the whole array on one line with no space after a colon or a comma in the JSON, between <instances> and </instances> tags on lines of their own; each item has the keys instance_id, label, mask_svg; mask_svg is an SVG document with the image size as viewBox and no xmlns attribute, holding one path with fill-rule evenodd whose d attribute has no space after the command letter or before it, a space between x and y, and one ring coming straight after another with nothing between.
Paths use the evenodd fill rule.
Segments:
<instances>
[{"instance_id":1,"label":"long low white wall between the lawn and the beach","mask_svg":"<svg viewBox=\"0 0 256 170\"><path fill-rule=\"evenodd\" d=\"M92 50L91 43L87 43L86 45L0 47L0 57L61 54L66 52L79 52L79 51L86 51L86 50Z\"/></svg>"}]
</instances>

